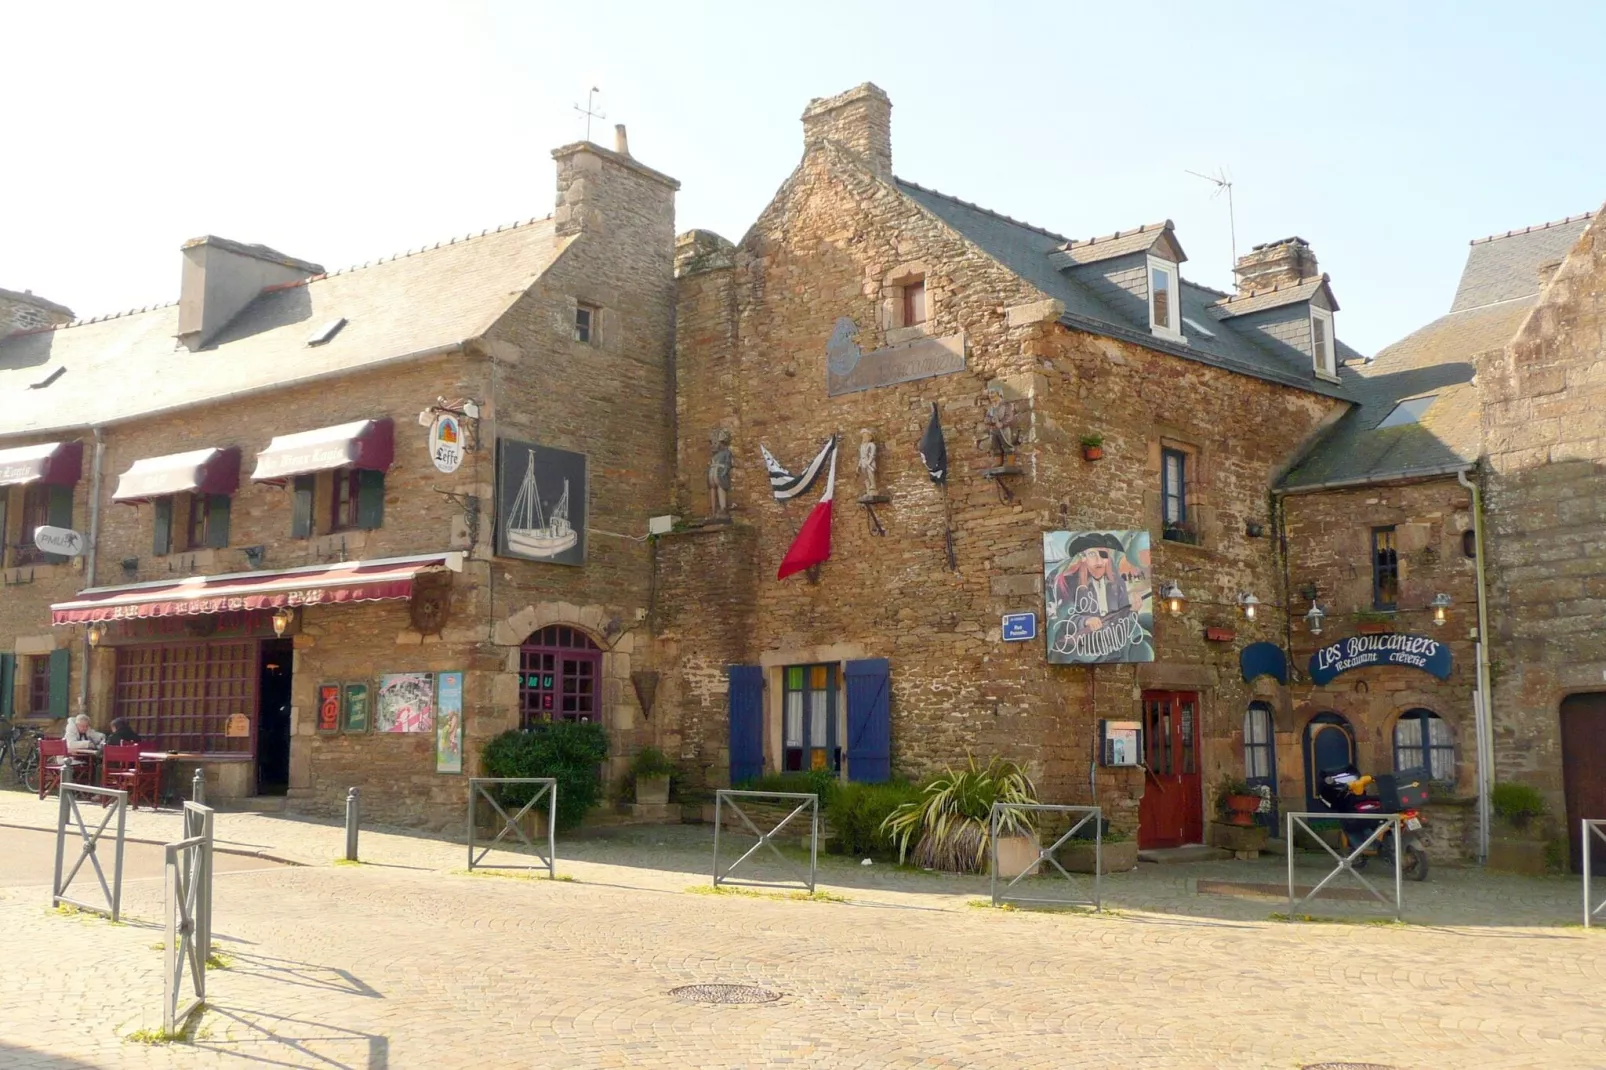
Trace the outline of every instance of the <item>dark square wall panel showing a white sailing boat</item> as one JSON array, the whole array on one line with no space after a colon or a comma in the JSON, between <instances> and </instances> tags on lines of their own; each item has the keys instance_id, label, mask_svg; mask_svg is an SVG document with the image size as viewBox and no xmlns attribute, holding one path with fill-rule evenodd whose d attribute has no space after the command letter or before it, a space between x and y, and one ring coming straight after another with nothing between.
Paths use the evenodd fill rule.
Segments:
<instances>
[{"instance_id":1,"label":"dark square wall panel showing a white sailing boat","mask_svg":"<svg viewBox=\"0 0 1606 1070\"><path fill-rule=\"evenodd\" d=\"M586 455L533 442L496 443L496 553L586 562Z\"/></svg>"}]
</instances>

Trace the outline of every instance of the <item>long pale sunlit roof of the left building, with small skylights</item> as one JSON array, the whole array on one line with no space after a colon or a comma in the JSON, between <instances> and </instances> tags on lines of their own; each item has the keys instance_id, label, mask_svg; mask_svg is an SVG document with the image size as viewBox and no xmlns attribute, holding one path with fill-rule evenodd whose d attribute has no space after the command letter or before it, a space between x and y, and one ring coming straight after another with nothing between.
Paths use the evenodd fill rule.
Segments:
<instances>
[{"instance_id":1,"label":"long pale sunlit roof of the left building, with small skylights","mask_svg":"<svg viewBox=\"0 0 1606 1070\"><path fill-rule=\"evenodd\" d=\"M569 241L549 218L528 220L270 286L199 352L177 341L177 304L11 334L0 339L0 435L133 419L461 344ZM340 317L332 339L307 344Z\"/></svg>"}]
</instances>

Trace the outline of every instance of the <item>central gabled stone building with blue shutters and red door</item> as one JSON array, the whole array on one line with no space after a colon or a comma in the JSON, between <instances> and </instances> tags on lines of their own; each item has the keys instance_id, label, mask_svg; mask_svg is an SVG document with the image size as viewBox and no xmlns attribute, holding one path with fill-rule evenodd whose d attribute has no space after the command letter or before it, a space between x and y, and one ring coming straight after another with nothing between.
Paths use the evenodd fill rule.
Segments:
<instances>
[{"instance_id":1,"label":"central gabled stone building with blue shutters and red door","mask_svg":"<svg viewBox=\"0 0 1606 1070\"><path fill-rule=\"evenodd\" d=\"M666 739L700 784L1002 755L1145 845L1198 842L1249 704L1290 729L1240 662L1288 639L1270 490L1351 408L1330 281L1288 239L1224 294L1182 278L1169 222L1071 239L896 178L874 85L803 129L739 244L679 238L678 513L718 513L713 432L734 468L729 516L657 548ZM933 411L944 484L915 448ZM772 479L832 435L832 556L777 582L825 479L787 501Z\"/></svg>"}]
</instances>

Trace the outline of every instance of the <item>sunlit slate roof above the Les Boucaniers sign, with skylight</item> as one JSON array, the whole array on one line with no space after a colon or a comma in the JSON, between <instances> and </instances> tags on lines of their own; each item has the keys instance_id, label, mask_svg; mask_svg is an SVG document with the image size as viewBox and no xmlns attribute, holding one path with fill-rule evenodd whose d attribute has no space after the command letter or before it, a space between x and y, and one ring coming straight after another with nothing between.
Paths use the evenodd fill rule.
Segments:
<instances>
[{"instance_id":1,"label":"sunlit slate roof above the Les Boucaniers sign, with skylight","mask_svg":"<svg viewBox=\"0 0 1606 1070\"><path fill-rule=\"evenodd\" d=\"M1510 342L1539 300L1539 270L1566 257L1588 215L1471 243L1450 312L1341 371L1359 405L1285 477L1290 490L1394 480L1471 464L1482 451L1476 358ZM1433 397L1416 423L1380 427L1396 405Z\"/></svg>"}]
</instances>

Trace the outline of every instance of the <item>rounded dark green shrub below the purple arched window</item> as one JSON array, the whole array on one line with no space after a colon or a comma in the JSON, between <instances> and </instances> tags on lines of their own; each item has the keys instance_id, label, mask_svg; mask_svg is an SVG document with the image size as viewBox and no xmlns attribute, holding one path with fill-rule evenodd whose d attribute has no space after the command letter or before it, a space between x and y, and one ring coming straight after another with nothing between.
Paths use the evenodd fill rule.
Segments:
<instances>
[{"instance_id":1,"label":"rounded dark green shrub below the purple arched window","mask_svg":"<svg viewBox=\"0 0 1606 1070\"><path fill-rule=\"evenodd\" d=\"M601 725L548 721L530 729L493 736L482 752L485 776L551 776L557 781L557 827L572 829L602 800L599 766L607 758L607 729ZM525 784L501 784L496 800L524 807L536 792ZM546 800L536 807L546 813Z\"/></svg>"}]
</instances>

